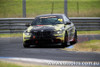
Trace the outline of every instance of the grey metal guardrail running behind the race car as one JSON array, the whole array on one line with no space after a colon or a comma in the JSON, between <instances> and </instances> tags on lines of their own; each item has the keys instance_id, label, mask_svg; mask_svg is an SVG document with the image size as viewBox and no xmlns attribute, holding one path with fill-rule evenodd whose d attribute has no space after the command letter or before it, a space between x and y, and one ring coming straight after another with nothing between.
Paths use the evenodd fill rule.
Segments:
<instances>
[{"instance_id":1,"label":"grey metal guardrail running behind the race car","mask_svg":"<svg viewBox=\"0 0 100 67\"><path fill-rule=\"evenodd\" d=\"M70 17L77 30L100 30L100 17ZM34 18L0 18L0 33L21 33Z\"/></svg>"}]
</instances>

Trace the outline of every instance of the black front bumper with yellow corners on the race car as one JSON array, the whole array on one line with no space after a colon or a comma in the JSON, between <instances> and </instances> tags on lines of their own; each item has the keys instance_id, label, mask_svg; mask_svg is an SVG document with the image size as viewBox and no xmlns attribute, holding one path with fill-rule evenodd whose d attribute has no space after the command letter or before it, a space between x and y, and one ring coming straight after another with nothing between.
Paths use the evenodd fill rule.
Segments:
<instances>
[{"instance_id":1,"label":"black front bumper with yellow corners on the race car","mask_svg":"<svg viewBox=\"0 0 100 67\"><path fill-rule=\"evenodd\" d=\"M26 36L23 33L23 42L28 44L58 44L64 42L64 35L54 35L49 37L38 37L35 35Z\"/></svg>"}]
</instances>

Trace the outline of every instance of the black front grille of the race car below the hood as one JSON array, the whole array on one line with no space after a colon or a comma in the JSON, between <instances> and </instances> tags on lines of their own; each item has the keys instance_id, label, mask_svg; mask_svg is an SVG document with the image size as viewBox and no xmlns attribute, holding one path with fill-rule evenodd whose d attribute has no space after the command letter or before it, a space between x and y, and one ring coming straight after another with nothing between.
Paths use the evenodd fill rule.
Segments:
<instances>
[{"instance_id":1,"label":"black front grille of the race car below the hood","mask_svg":"<svg viewBox=\"0 0 100 67\"><path fill-rule=\"evenodd\" d=\"M53 32L51 31L38 31L38 32L33 32L33 34L37 37L37 38L42 38L42 39L46 39L46 38L51 38Z\"/></svg>"}]
</instances>

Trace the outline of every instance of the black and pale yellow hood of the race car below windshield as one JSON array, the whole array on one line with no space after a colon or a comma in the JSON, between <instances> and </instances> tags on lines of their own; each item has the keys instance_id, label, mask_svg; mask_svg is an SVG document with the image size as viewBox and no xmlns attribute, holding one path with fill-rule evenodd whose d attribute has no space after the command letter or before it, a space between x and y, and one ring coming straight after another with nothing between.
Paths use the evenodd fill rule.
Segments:
<instances>
[{"instance_id":1,"label":"black and pale yellow hood of the race car below windshield","mask_svg":"<svg viewBox=\"0 0 100 67\"><path fill-rule=\"evenodd\" d=\"M61 28L64 27L64 24L56 24L56 25L37 25L37 26L30 26L28 27L27 31L56 31L60 30Z\"/></svg>"}]
</instances>

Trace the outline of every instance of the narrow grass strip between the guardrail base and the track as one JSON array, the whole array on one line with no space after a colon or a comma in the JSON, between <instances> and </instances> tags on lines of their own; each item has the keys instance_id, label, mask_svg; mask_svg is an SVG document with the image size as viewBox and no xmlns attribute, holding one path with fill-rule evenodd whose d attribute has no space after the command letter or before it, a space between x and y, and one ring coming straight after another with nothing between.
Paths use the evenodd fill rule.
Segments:
<instances>
[{"instance_id":1,"label":"narrow grass strip between the guardrail base and the track","mask_svg":"<svg viewBox=\"0 0 100 67\"><path fill-rule=\"evenodd\" d=\"M77 31L77 35L100 35L100 31ZM22 37L22 33L0 34L0 37Z\"/></svg>"}]
</instances>

